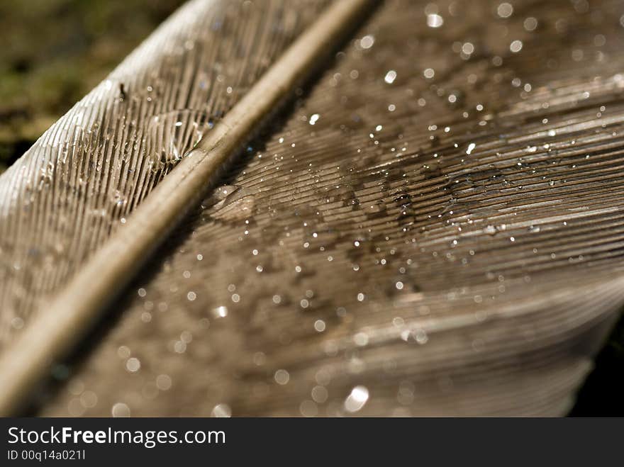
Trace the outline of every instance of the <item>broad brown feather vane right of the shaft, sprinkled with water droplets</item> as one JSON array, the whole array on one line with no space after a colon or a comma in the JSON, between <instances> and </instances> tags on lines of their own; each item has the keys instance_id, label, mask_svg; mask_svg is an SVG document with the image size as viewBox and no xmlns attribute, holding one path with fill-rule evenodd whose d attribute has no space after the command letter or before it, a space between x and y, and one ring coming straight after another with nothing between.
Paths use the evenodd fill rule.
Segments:
<instances>
[{"instance_id":1,"label":"broad brown feather vane right of the shaft, sprinkled with water droplets","mask_svg":"<svg viewBox=\"0 0 624 467\"><path fill-rule=\"evenodd\" d=\"M374 13L41 415L569 410L624 302L618 6L438 7Z\"/></svg>"}]
</instances>

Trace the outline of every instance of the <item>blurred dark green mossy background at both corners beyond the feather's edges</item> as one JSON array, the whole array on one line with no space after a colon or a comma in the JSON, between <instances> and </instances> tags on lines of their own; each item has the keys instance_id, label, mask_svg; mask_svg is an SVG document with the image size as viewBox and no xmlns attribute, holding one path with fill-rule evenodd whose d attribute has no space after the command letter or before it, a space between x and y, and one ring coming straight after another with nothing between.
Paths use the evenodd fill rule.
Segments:
<instances>
[{"instance_id":1,"label":"blurred dark green mossy background at both corners beyond the feather's edges","mask_svg":"<svg viewBox=\"0 0 624 467\"><path fill-rule=\"evenodd\" d=\"M182 0L0 2L0 173L89 92ZM624 415L624 319L573 416Z\"/></svg>"}]
</instances>

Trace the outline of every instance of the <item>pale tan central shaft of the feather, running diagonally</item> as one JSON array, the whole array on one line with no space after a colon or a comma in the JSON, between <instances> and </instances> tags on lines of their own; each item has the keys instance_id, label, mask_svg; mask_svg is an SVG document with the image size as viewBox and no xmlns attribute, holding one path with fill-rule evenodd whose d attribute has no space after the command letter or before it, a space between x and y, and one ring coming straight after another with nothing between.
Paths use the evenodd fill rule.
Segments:
<instances>
[{"instance_id":1,"label":"pale tan central shaft of the feather, running diagonally","mask_svg":"<svg viewBox=\"0 0 624 467\"><path fill-rule=\"evenodd\" d=\"M101 317L147 257L184 214L206 194L218 169L250 138L262 120L328 57L372 6L339 0L269 68L250 91L134 211L126 225L94 254L0 360L0 416L17 412L33 386Z\"/></svg>"}]
</instances>

